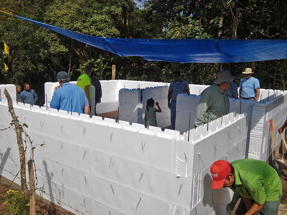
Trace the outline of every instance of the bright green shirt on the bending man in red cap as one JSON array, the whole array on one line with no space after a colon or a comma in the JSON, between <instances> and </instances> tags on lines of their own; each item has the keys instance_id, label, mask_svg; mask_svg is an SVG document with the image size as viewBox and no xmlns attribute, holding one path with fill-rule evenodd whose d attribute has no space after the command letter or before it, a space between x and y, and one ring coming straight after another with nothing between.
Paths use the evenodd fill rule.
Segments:
<instances>
[{"instance_id":1,"label":"bright green shirt on the bending man in red cap","mask_svg":"<svg viewBox=\"0 0 287 215\"><path fill-rule=\"evenodd\" d=\"M235 193L253 199L261 205L278 201L282 196L282 183L275 169L264 161L242 159L231 162L234 167Z\"/></svg>"}]
</instances>

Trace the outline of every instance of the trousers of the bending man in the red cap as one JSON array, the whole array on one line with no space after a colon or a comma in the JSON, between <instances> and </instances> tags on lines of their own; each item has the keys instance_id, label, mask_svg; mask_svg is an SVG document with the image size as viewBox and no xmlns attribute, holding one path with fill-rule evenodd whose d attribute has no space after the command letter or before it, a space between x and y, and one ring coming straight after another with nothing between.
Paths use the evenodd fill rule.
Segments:
<instances>
[{"instance_id":1,"label":"trousers of the bending man in the red cap","mask_svg":"<svg viewBox=\"0 0 287 215\"><path fill-rule=\"evenodd\" d=\"M226 215L230 215L237 200L240 198L240 196L236 193L234 193L232 201L226 206ZM280 205L281 195L279 194L279 200L273 201L273 202L266 202L262 210L259 212L260 215L274 215L278 214L278 208ZM254 200L253 200L254 201ZM239 210L239 213L238 213ZM238 210L236 211L236 214L245 214L246 208L243 201L240 202L238 206ZM245 211L244 211L245 210ZM242 213L243 212L243 213Z\"/></svg>"}]
</instances>

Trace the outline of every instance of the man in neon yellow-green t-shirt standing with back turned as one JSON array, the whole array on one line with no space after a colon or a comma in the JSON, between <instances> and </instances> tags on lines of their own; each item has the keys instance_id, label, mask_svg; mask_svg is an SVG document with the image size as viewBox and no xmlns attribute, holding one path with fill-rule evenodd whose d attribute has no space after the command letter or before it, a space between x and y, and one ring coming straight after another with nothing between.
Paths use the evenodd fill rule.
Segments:
<instances>
[{"instance_id":1,"label":"man in neon yellow-green t-shirt standing with back turned","mask_svg":"<svg viewBox=\"0 0 287 215\"><path fill-rule=\"evenodd\" d=\"M90 65L85 66L84 68L84 74L80 75L80 77L77 80L77 86L81 87L85 91L85 95L88 99L90 108L92 105L92 82L90 79L90 74L92 72L92 67Z\"/></svg>"}]
</instances>

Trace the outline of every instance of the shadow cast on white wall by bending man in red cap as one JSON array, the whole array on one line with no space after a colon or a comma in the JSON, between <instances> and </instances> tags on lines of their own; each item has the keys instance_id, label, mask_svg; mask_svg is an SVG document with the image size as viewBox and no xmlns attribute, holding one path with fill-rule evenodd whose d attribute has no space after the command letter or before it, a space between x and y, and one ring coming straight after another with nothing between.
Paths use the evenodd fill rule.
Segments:
<instances>
[{"instance_id":1,"label":"shadow cast on white wall by bending man in red cap","mask_svg":"<svg viewBox=\"0 0 287 215\"><path fill-rule=\"evenodd\" d=\"M212 177L210 174L206 174L203 180L203 205L213 208L216 215L225 214L224 205L227 205L231 201L228 188L212 189ZM227 196L228 198L225 198Z\"/></svg>"}]
</instances>

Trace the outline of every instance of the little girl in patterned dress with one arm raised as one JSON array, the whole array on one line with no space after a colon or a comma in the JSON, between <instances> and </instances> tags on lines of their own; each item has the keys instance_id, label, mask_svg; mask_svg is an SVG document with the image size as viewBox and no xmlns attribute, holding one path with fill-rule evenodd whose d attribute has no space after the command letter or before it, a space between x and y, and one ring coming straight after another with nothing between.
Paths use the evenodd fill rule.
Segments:
<instances>
[{"instance_id":1,"label":"little girl in patterned dress with one arm raised","mask_svg":"<svg viewBox=\"0 0 287 215\"><path fill-rule=\"evenodd\" d=\"M158 113L161 112L161 109L160 109L160 106L158 105L158 102L156 102L156 106L158 107L158 109L156 109L154 107L154 99L150 98L150 99L148 99L148 101L146 103L147 103L146 112L145 112L145 116L144 116L144 122L145 122L146 128L148 127L148 125L158 126L158 124L156 123L156 112L158 112Z\"/></svg>"}]
</instances>

